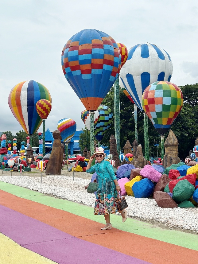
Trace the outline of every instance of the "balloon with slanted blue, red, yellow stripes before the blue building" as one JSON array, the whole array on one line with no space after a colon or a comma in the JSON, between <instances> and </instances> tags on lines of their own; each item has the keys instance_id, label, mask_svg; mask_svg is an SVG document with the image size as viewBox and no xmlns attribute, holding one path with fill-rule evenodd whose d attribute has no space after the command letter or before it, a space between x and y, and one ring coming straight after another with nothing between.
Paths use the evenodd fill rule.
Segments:
<instances>
[{"instance_id":1,"label":"balloon with slanted blue, red, yellow stripes before the blue building","mask_svg":"<svg viewBox=\"0 0 198 264\"><path fill-rule=\"evenodd\" d=\"M58 121L57 125L63 142L65 143L65 157L68 158L68 144L76 132L76 122L71 118L63 118Z\"/></svg>"}]
</instances>

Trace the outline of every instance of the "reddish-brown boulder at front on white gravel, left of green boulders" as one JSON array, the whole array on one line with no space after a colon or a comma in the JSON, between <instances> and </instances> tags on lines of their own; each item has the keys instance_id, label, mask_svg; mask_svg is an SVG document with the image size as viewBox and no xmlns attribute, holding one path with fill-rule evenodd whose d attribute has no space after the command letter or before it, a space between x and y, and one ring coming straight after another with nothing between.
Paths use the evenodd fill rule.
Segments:
<instances>
[{"instance_id":1,"label":"reddish-brown boulder at front on white gravel, left of green boulders","mask_svg":"<svg viewBox=\"0 0 198 264\"><path fill-rule=\"evenodd\" d=\"M154 199L161 208L177 208L176 202L167 192L157 191L154 193Z\"/></svg>"}]
</instances>

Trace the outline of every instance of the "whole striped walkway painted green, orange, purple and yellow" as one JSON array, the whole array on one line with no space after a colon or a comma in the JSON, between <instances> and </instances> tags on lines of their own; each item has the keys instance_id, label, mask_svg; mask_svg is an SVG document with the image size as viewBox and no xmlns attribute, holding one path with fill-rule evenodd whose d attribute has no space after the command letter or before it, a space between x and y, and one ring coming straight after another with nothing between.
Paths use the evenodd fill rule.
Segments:
<instances>
[{"instance_id":1,"label":"whole striped walkway painted green, orange, purple and yellow","mask_svg":"<svg viewBox=\"0 0 198 264\"><path fill-rule=\"evenodd\" d=\"M197 264L198 235L111 215L0 181L1 264Z\"/></svg>"}]
</instances>

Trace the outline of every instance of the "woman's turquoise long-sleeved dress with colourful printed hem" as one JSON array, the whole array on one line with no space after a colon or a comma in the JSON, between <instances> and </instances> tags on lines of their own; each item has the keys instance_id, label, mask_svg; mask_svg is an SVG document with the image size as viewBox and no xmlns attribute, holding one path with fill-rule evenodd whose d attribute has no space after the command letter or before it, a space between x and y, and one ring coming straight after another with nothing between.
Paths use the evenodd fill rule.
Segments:
<instances>
[{"instance_id":1,"label":"woman's turquoise long-sleeved dress with colourful printed hem","mask_svg":"<svg viewBox=\"0 0 198 264\"><path fill-rule=\"evenodd\" d=\"M109 161L96 163L87 172L96 172L98 175L98 188L95 199L95 215L110 215L118 211L117 196L114 180L116 180L113 166Z\"/></svg>"}]
</instances>

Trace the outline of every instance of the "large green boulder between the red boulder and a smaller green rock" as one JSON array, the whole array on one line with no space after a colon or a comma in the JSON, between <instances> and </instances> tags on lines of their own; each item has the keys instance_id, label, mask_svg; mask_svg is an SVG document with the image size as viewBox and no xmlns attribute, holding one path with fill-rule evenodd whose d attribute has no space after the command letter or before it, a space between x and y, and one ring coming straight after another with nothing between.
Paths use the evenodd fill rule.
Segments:
<instances>
[{"instance_id":1,"label":"large green boulder between the red boulder and a smaller green rock","mask_svg":"<svg viewBox=\"0 0 198 264\"><path fill-rule=\"evenodd\" d=\"M176 201L177 204L190 199L195 187L189 183L188 180L178 181L178 183L173 188L173 200Z\"/></svg>"}]
</instances>

